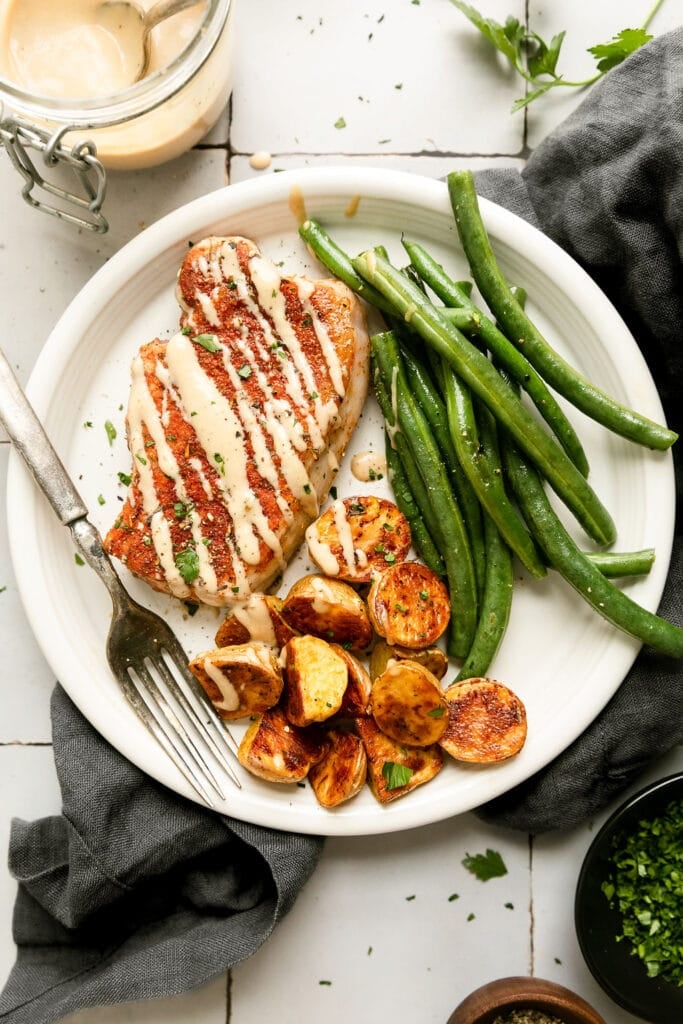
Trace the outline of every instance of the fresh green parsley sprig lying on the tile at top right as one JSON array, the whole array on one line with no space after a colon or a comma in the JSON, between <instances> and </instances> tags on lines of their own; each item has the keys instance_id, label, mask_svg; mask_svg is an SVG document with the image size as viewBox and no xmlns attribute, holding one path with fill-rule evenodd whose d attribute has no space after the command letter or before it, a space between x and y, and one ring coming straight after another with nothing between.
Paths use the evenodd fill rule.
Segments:
<instances>
[{"instance_id":1,"label":"fresh green parsley sprig lying on the tile at top right","mask_svg":"<svg viewBox=\"0 0 683 1024\"><path fill-rule=\"evenodd\" d=\"M451 2L462 11L465 17L469 18L481 35L503 54L510 66L530 86L526 94L515 99L512 104L512 113L514 114L556 86L583 89L597 82L608 71L625 60L629 54L639 49L644 43L649 42L652 36L648 34L647 27L664 0L656 0L640 28L623 29L608 42L590 46L588 52L592 53L597 60L597 72L590 78L579 82L570 81L557 72L557 61L566 35L565 32L559 32L548 43L538 33L530 32L518 18L512 15L506 18L505 25L501 25L493 17L484 17L475 7L463 3L462 0L451 0Z\"/></svg>"}]
</instances>

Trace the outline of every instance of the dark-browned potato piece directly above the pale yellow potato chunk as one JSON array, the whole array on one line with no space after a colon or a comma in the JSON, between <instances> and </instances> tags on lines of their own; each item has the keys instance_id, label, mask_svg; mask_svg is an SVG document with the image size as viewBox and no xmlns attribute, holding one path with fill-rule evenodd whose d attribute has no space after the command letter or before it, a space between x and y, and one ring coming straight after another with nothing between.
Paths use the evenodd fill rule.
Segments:
<instances>
[{"instance_id":1,"label":"dark-browned potato piece directly above the pale yellow potato chunk","mask_svg":"<svg viewBox=\"0 0 683 1024\"><path fill-rule=\"evenodd\" d=\"M341 580L312 573L293 585L282 607L282 616L297 633L364 651L373 639L368 608L352 587Z\"/></svg>"}]
</instances>

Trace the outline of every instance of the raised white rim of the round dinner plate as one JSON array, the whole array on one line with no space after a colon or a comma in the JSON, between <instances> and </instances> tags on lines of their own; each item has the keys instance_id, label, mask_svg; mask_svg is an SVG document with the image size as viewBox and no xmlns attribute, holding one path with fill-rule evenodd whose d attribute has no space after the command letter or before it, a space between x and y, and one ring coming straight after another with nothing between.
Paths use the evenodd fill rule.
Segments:
<instances>
[{"instance_id":1,"label":"raised white rim of the round dinner plate","mask_svg":"<svg viewBox=\"0 0 683 1024\"><path fill-rule=\"evenodd\" d=\"M73 355L73 349L77 348L78 339L82 334L85 321L92 323L93 307L97 308L98 302L101 302L102 298L111 298L114 296L118 292L122 283L125 283L126 280L130 279L136 267L141 265L141 263L144 263L150 258L158 258L159 255L169 247L177 246L181 241L184 243L187 238L196 234L197 231L193 230L193 224L211 224L218 220L224 220L232 214L244 211L245 209L251 209L254 206L262 206L267 201L276 201L279 203L288 202L292 188L295 185L300 187L304 193L305 199L310 200L311 202L314 198L329 196L331 193L334 193L339 197L344 196L349 198L365 190L366 193L372 194L373 197L380 195L383 200L390 200L393 202L408 201L413 205L415 205L416 202L419 202L420 205L427 205L430 209L436 211L450 210L447 203L447 189L443 181L407 171L386 171L384 169L374 167L349 168L346 166L327 166L319 168L288 170L263 178L252 178L236 184L225 185L205 196L199 197L198 199L178 207L176 210L171 211L159 221L146 227L138 236L130 240L130 242L126 243L102 267L100 267L99 270L96 271L95 274L93 274L93 276L69 303L46 339L30 376L27 393L32 402L36 406L38 414L40 416L44 416L46 410L49 411L49 382L50 380L55 379L55 373L63 371L63 368L68 365L69 357ZM581 282L582 288L586 290L586 293L590 295L591 299L594 302L597 302L603 310L609 313L611 322L620 327L624 337L630 341L630 344L627 345L627 352L625 353L625 365L630 368L630 372L639 371L640 373L644 373L647 377L647 414L655 418L659 417L660 419L664 419L664 411L661 409L658 392L656 391L654 382L651 380L651 375L642 352L633 338L633 335L627 328L623 317L607 296L598 288L593 279L572 259L571 256L569 256L555 242L527 221L518 217L505 207L493 203L489 200L479 198L479 202L484 221L486 222L489 230L492 230L493 234L496 236L502 233L505 237L508 231L512 230L515 233L515 248L518 248L520 245L520 243L517 242L518 239L521 240L521 244L528 242L533 251L538 249L542 253L545 271L547 271L550 266L553 272L559 274L562 279L568 276L573 281ZM538 257L535 257L533 262L537 263L538 261ZM74 330L74 323L80 324L81 330ZM70 346L72 350L70 350ZM664 590L666 583L673 543L675 488L671 452L667 453L665 459L667 456L669 457L669 472L667 474L669 500L666 501L666 505L671 528L667 530L667 546L665 547L665 544L658 541L657 563L660 571L660 586L658 587L658 593L656 595L657 602L661 596L661 591ZM26 522L26 505L23 505L22 496L29 494L28 488L32 485L33 481L31 480L30 474L24 467L18 455L12 450L9 460L6 496L10 555L14 565L19 596L32 632L34 633L36 642L43 650L48 664L53 667L53 663L49 656L49 650L47 649L47 641L42 636L39 613L37 609L34 610L34 605L31 601L31 588L28 580L28 573L19 564L20 560L18 557L20 549L18 536ZM664 496L664 498L666 499L667 496ZM663 566L664 569L661 568ZM640 645L632 644L629 652L625 654L624 663L626 668L624 670L624 675L626 675L629 671L638 654L639 649ZM58 672L56 672L56 670L55 673L58 676ZM79 700L74 696L69 685L65 685L63 683L62 685L65 686L67 692L70 693L70 696L75 701L77 707L79 707L81 712L91 722L93 727L102 736L104 736L108 741L115 745L123 756L133 761L133 763L140 767L141 770L145 771L157 780L169 785L172 790L181 793L183 796L201 803L196 795L188 790L186 783L184 783L181 776L175 771L175 769L172 768L172 766L168 766L171 769L170 771L161 770L156 764L156 758L154 756L152 758L140 756L139 752L131 750L131 743L122 742L120 736L113 737L111 735L111 730L106 728L108 723L93 721L91 714L89 714L88 711L84 709L82 703L79 702ZM611 690L604 695L604 699L601 700L600 707L597 711L594 711L591 708L590 714L587 712L587 714L581 718L579 731L574 733L572 738L567 740L561 750L565 750L566 746L569 745L573 739L575 739L581 732L587 728L588 725L590 725L596 714L599 714L602 708L604 708L620 685L621 680L616 682L613 688L611 688ZM535 764L532 772L536 772L547 765L561 753L561 750L555 750L550 756L543 760L542 764ZM153 763L152 765L151 761ZM157 770L152 770L152 767L155 767ZM523 781L528 777L529 773L525 772L521 774L520 777L514 777L514 771L512 771L511 774L513 775L513 781L509 784L504 783L499 788L494 785L494 792L492 792L490 797L486 798L487 800L493 799L496 796L500 796L503 792L507 792L510 787L518 784L520 781ZM410 801L405 802L405 804L409 803ZM398 801L390 806L394 809L399 804L403 805L403 801ZM310 834L324 831L326 835L374 835L397 831L432 823L438 820L443 820L444 818L451 817L455 814L464 813L466 810L470 809L472 808L468 807L458 810L446 810L445 813L437 811L435 814L421 816L419 813L411 813L411 808L407 808L404 813L396 814L394 812L391 817L386 817L382 815L382 808L380 805L377 805L375 820L369 824L364 823L362 826L352 823L350 819L341 818L331 814L329 811L325 812L325 818L318 819L318 817L316 817L312 825L310 825L308 821L302 822L300 820L287 822L286 814L284 817L276 815L279 820L274 821L274 823L272 819L264 820L258 815L256 817L246 816L244 820L249 820L256 824L264 824L269 827L290 830L294 828L298 831Z\"/></svg>"}]
</instances>

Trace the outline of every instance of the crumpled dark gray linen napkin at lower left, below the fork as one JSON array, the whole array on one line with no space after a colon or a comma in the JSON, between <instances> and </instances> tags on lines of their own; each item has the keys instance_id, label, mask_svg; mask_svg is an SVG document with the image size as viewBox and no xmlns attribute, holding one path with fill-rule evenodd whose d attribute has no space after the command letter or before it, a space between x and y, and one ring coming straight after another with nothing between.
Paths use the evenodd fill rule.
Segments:
<instances>
[{"instance_id":1,"label":"crumpled dark gray linen napkin at lower left, below the fork","mask_svg":"<svg viewBox=\"0 0 683 1024\"><path fill-rule=\"evenodd\" d=\"M6 1024L173 995L250 956L287 913L322 841L245 824L171 793L52 697L63 813L14 821L17 958Z\"/></svg>"}]
</instances>

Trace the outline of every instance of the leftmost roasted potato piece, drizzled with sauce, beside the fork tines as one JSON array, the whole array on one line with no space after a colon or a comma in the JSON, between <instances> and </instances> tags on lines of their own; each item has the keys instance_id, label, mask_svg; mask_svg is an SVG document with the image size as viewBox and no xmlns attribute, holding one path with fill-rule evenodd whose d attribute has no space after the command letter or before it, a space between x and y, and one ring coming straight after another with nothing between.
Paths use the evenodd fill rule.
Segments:
<instances>
[{"instance_id":1,"label":"leftmost roasted potato piece, drizzled with sauce, beside the fork tines","mask_svg":"<svg viewBox=\"0 0 683 1024\"><path fill-rule=\"evenodd\" d=\"M189 669L227 721L260 715L278 703L283 690L275 652L257 641L205 651Z\"/></svg>"}]
</instances>

